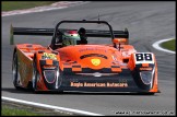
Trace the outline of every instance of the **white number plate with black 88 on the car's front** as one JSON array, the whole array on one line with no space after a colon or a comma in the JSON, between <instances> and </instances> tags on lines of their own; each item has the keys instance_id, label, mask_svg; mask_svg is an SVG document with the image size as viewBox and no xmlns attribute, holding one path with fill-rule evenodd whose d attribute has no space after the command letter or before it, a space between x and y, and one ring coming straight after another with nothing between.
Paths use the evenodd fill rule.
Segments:
<instances>
[{"instance_id":1,"label":"white number plate with black 88 on the car's front","mask_svg":"<svg viewBox=\"0 0 177 117\"><path fill-rule=\"evenodd\" d=\"M153 54L151 52L138 52L135 54L135 63L153 63Z\"/></svg>"}]
</instances>

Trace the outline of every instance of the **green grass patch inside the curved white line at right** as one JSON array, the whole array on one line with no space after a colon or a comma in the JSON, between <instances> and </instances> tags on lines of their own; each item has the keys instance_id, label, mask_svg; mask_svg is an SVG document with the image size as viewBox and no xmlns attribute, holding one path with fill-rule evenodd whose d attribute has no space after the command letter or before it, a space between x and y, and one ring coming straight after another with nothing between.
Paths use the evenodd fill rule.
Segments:
<instances>
[{"instance_id":1,"label":"green grass patch inside the curved white line at right","mask_svg":"<svg viewBox=\"0 0 177 117\"><path fill-rule=\"evenodd\" d=\"M176 51L176 39L172 39L169 42L162 43L161 46L163 48Z\"/></svg>"}]
</instances>

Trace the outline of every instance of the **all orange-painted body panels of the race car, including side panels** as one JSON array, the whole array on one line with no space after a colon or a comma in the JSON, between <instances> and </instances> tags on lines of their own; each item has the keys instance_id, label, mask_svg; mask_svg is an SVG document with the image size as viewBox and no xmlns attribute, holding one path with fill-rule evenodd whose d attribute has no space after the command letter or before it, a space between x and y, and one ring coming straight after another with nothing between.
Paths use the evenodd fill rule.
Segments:
<instances>
[{"instance_id":1,"label":"all orange-painted body panels of the race car, including side panels","mask_svg":"<svg viewBox=\"0 0 177 117\"><path fill-rule=\"evenodd\" d=\"M55 51L58 52L58 55L54 55L54 50L40 45L22 44L16 45L16 51L19 55L19 62L23 65L23 67L20 68L20 74L24 87L27 86L33 78L34 56L36 57L37 70L40 75L43 75L43 71L39 60L42 60L43 56L52 58L46 59L46 66L44 66L44 68L52 67L52 61L57 60L59 61L61 71L63 71L64 68L71 68L72 72L82 72L84 68L93 70L109 68L114 73L121 73L123 69L130 69L132 71L135 68L133 54L135 54L137 50L131 45L121 45L120 50L113 48L111 45L75 45L56 49ZM149 63L142 63L142 67L148 68ZM44 79L37 82L37 86L38 90L48 91L44 83ZM156 62L154 83L149 92L158 92Z\"/></svg>"}]
</instances>

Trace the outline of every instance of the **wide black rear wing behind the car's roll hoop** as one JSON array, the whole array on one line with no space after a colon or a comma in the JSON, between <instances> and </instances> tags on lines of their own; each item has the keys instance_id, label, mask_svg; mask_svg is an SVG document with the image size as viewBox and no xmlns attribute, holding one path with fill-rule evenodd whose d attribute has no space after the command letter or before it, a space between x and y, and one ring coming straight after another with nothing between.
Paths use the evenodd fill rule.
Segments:
<instances>
[{"instance_id":1,"label":"wide black rear wing behind the car's roll hoop","mask_svg":"<svg viewBox=\"0 0 177 117\"><path fill-rule=\"evenodd\" d=\"M67 28L60 28L60 31L67 31ZM78 31L78 30L75 30ZM52 36L55 28L32 28L32 27L10 27L10 44L14 44L14 35L36 35L36 36ZM115 38L126 38L129 42L129 32L114 31ZM101 30L86 30L87 37L110 37L109 31Z\"/></svg>"}]
</instances>

